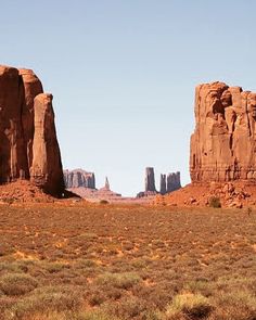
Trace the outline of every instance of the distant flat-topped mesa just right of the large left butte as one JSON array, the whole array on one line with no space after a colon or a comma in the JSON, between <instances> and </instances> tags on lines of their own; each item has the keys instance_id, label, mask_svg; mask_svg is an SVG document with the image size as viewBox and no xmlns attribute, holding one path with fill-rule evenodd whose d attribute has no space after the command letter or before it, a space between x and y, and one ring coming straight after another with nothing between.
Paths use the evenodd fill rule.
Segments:
<instances>
[{"instance_id":1,"label":"distant flat-topped mesa just right of the large left butte","mask_svg":"<svg viewBox=\"0 0 256 320\"><path fill-rule=\"evenodd\" d=\"M82 169L64 170L64 180L67 189L89 188L95 189L95 176Z\"/></svg>"}]
</instances>

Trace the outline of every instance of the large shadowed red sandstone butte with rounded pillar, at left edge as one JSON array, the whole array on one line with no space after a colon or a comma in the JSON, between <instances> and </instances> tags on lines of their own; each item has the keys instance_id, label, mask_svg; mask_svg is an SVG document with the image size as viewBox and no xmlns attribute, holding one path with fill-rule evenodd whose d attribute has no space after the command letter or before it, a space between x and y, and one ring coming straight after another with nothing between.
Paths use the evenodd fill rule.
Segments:
<instances>
[{"instance_id":1,"label":"large shadowed red sandstone butte with rounded pillar, at left edge","mask_svg":"<svg viewBox=\"0 0 256 320\"><path fill-rule=\"evenodd\" d=\"M0 65L0 183L30 180L44 192L64 192L52 94L30 69Z\"/></svg>"}]
</instances>

